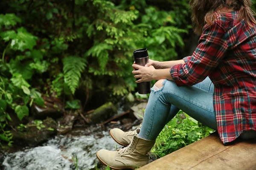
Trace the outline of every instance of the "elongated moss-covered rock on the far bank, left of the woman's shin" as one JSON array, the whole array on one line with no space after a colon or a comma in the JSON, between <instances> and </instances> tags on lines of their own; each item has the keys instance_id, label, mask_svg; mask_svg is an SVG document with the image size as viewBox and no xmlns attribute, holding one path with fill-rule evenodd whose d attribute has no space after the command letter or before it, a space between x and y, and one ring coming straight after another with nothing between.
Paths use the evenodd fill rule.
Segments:
<instances>
[{"instance_id":1,"label":"elongated moss-covered rock on the far bank, left of the woman's shin","mask_svg":"<svg viewBox=\"0 0 256 170\"><path fill-rule=\"evenodd\" d=\"M92 113L85 116L87 123L99 123L117 113L116 106L112 102L105 103Z\"/></svg>"}]
</instances>

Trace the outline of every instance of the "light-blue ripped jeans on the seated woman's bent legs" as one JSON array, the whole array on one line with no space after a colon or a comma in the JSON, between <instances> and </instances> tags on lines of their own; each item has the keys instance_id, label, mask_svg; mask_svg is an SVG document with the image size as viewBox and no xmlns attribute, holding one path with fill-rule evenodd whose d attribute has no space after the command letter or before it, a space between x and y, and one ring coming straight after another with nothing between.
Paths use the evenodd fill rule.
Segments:
<instances>
[{"instance_id":1,"label":"light-blue ripped jeans on the seated woman's bent legs","mask_svg":"<svg viewBox=\"0 0 256 170\"><path fill-rule=\"evenodd\" d=\"M175 82L159 80L149 96L139 136L148 140L156 139L166 123L177 114L177 108L217 130L212 94L213 85L208 77L192 87L177 87ZM177 107L172 108L174 105Z\"/></svg>"}]
</instances>

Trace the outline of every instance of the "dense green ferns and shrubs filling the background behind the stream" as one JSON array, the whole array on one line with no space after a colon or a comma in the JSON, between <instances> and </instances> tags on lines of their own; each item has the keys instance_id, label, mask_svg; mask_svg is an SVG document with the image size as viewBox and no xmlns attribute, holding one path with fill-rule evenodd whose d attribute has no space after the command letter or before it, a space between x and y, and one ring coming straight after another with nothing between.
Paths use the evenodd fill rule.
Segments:
<instances>
[{"instance_id":1,"label":"dense green ferns and shrubs filling the background behind the stream","mask_svg":"<svg viewBox=\"0 0 256 170\"><path fill-rule=\"evenodd\" d=\"M65 99L67 109L80 107L78 88L134 100L133 51L175 59L189 30L188 0L166 3L0 1L0 134L11 128L9 112L23 121L33 103L44 106L41 94Z\"/></svg>"}]
</instances>

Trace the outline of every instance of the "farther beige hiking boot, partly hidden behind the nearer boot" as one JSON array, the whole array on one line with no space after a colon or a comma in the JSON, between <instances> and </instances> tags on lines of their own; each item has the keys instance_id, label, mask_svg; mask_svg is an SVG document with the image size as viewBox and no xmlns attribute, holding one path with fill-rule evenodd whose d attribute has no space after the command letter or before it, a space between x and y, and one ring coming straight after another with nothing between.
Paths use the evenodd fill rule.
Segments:
<instances>
[{"instance_id":1,"label":"farther beige hiking boot, partly hidden behind the nearer boot","mask_svg":"<svg viewBox=\"0 0 256 170\"><path fill-rule=\"evenodd\" d=\"M134 131L124 132L121 129L114 128L109 131L114 141L122 146L128 146L131 143L132 135L139 134L142 123Z\"/></svg>"}]
</instances>

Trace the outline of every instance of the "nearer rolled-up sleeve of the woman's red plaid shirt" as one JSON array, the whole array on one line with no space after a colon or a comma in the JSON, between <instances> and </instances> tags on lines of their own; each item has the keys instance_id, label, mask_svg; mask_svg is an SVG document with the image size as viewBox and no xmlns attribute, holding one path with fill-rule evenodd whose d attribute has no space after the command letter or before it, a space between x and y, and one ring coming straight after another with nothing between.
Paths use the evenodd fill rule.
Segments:
<instances>
[{"instance_id":1,"label":"nearer rolled-up sleeve of the woman's red plaid shirt","mask_svg":"<svg viewBox=\"0 0 256 170\"><path fill-rule=\"evenodd\" d=\"M177 85L195 85L213 71L227 51L224 29L218 24L205 26L199 45L192 56L183 58L185 64L174 65L170 74Z\"/></svg>"}]
</instances>

